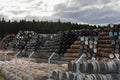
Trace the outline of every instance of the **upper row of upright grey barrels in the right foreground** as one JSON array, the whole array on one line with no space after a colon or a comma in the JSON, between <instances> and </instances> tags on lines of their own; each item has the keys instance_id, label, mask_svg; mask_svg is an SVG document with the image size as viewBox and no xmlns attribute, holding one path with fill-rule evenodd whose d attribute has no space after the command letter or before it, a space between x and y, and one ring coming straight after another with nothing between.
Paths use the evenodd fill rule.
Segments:
<instances>
[{"instance_id":1,"label":"upper row of upright grey barrels in the right foreground","mask_svg":"<svg viewBox=\"0 0 120 80\"><path fill-rule=\"evenodd\" d=\"M84 61L79 63L79 70L82 73L94 73L94 74L107 74L107 73L118 73L119 62L117 60L110 61ZM68 63L68 70L76 71L76 62L70 61Z\"/></svg>"}]
</instances>

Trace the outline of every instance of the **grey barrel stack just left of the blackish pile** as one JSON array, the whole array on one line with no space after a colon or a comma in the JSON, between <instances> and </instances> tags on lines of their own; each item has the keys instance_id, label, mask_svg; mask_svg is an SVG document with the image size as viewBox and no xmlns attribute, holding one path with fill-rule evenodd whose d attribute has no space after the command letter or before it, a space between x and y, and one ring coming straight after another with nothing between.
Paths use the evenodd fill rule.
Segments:
<instances>
[{"instance_id":1,"label":"grey barrel stack just left of the blackish pile","mask_svg":"<svg viewBox=\"0 0 120 80\"><path fill-rule=\"evenodd\" d=\"M60 38L60 33L45 35L45 42L37 50L35 58L48 59L53 52L58 51L60 47Z\"/></svg>"}]
</instances>

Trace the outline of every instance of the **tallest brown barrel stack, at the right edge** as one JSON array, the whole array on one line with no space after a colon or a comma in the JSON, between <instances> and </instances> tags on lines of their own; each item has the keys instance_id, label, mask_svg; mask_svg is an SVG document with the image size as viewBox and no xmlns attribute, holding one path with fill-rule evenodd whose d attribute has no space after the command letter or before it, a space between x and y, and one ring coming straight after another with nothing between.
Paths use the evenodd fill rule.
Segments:
<instances>
[{"instance_id":1,"label":"tallest brown barrel stack, at the right edge","mask_svg":"<svg viewBox=\"0 0 120 80\"><path fill-rule=\"evenodd\" d=\"M98 52L99 58L115 58L120 54L120 25L108 25L99 35Z\"/></svg>"}]
</instances>

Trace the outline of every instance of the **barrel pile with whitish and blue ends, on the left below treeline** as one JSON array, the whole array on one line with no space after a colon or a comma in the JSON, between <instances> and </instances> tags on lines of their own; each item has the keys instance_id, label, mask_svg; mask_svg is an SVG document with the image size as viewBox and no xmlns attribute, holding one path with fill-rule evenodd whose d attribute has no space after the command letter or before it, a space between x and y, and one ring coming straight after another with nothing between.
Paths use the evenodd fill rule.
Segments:
<instances>
[{"instance_id":1,"label":"barrel pile with whitish and blue ends, on the left below treeline","mask_svg":"<svg viewBox=\"0 0 120 80\"><path fill-rule=\"evenodd\" d=\"M39 44L40 39L34 31L20 31L13 41L12 48L14 50L35 50L35 45Z\"/></svg>"}]
</instances>

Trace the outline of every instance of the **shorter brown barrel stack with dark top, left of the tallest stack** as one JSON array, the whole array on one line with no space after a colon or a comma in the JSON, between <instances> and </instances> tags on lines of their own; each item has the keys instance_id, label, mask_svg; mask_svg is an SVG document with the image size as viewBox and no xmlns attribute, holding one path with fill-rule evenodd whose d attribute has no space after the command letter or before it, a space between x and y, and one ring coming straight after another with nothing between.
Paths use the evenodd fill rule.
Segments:
<instances>
[{"instance_id":1,"label":"shorter brown barrel stack with dark top, left of the tallest stack","mask_svg":"<svg viewBox=\"0 0 120 80\"><path fill-rule=\"evenodd\" d=\"M74 60L82 53L87 58L96 57L99 30L81 30L78 39L67 49L62 59Z\"/></svg>"}]
</instances>

